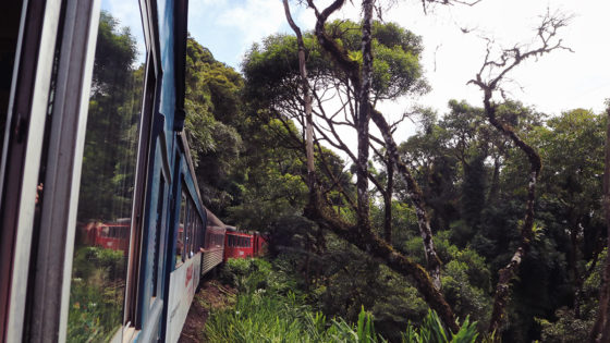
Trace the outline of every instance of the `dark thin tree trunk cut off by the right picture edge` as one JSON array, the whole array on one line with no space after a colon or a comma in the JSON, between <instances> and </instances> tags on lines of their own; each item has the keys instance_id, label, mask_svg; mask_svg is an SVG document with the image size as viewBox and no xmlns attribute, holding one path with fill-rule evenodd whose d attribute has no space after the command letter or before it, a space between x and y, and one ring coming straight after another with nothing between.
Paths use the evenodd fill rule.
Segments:
<instances>
[{"instance_id":1,"label":"dark thin tree trunk cut off by the right picture edge","mask_svg":"<svg viewBox=\"0 0 610 343\"><path fill-rule=\"evenodd\" d=\"M608 230L608 252L610 252L610 107L606 110L608 113L608 127L606 131L606 166L603 168L603 210L606 212L606 225ZM597 319L591 329L591 341L609 342L610 324L608 309L610 303L610 253L606 256L606 268L603 268L603 277L601 280L601 289L599 290L599 308Z\"/></svg>"}]
</instances>

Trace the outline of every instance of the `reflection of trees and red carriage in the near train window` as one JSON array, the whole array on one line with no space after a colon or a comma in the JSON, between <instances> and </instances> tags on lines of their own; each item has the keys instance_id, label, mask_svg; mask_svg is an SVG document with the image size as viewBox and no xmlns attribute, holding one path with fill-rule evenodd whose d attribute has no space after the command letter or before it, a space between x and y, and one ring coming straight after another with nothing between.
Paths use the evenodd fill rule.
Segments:
<instances>
[{"instance_id":1,"label":"reflection of trees and red carriage in the near train window","mask_svg":"<svg viewBox=\"0 0 610 343\"><path fill-rule=\"evenodd\" d=\"M102 4L102 8L105 5ZM72 284L69 342L106 342L121 328L145 52L141 23L99 19L85 135ZM133 22L133 21L130 21ZM136 21L139 22L139 21Z\"/></svg>"}]
</instances>

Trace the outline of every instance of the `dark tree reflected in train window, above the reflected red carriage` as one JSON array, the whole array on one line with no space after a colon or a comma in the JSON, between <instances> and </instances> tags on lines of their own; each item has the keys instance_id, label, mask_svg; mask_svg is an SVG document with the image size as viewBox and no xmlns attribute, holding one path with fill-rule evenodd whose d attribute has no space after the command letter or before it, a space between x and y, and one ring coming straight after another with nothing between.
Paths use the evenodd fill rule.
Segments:
<instances>
[{"instance_id":1,"label":"dark tree reflected in train window, above the reflected red carriage","mask_svg":"<svg viewBox=\"0 0 610 343\"><path fill-rule=\"evenodd\" d=\"M144 65L136 65L129 27L101 12L97 38L78 220L114 221L131 213ZM102 191L100 191L102 189Z\"/></svg>"}]
</instances>

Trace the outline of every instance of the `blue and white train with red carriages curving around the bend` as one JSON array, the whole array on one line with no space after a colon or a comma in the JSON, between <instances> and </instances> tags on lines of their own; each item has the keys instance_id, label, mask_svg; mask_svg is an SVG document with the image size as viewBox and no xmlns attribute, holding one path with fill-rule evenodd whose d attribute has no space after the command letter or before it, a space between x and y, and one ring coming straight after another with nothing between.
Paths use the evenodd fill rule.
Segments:
<instances>
[{"instance_id":1,"label":"blue and white train with red carriages curving around the bend","mask_svg":"<svg viewBox=\"0 0 610 343\"><path fill-rule=\"evenodd\" d=\"M187 9L0 3L1 342L176 342L202 275L264 250L202 200Z\"/></svg>"}]
</instances>

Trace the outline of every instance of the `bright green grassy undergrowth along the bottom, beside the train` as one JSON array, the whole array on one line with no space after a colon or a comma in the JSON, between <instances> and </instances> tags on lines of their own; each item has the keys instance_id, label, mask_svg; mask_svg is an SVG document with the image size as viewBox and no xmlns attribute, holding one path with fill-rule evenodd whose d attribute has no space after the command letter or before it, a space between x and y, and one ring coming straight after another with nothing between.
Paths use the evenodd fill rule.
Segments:
<instances>
[{"instance_id":1,"label":"bright green grassy undergrowth along the bottom, beside the train","mask_svg":"<svg viewBox=\"0 0 610 343\"><path fill-rule=\"evenodd\" d=\"M328 319L306 304L289 273L264 259L229 260L220 279L240 294L234 307L211 313L204 331L209 342L388 342L375 332L374 318L364 307L355 323ZM430 310L419 328L406 328L402 342L472 343L477 335L476 322L466 319L452 334Z\"/></svg>"}]
</instances>

